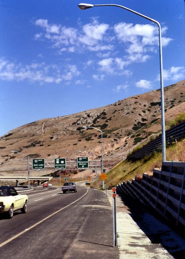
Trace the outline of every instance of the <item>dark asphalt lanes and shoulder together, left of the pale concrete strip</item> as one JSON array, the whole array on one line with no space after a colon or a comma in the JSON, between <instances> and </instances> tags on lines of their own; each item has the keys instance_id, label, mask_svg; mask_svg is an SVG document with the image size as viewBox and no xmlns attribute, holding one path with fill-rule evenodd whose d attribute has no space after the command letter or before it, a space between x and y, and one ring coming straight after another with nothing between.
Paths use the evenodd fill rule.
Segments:
<instances>
[{"instance_id":1,"label":"dark asphalt lanes and shoulder together, left of the pale concrete strip","mask_svg":"<svg viewBox=\"0 0 185 259\"><path fill-rule=\"evenodd\" d=\"M66 255L69 257L70 251L75 251L75 257L72 254L70 258L80 259L83 258L81 256L85 252L84 244L87 247L91 245L99 248L103 245L100 252L104 251L103 253L106 254L110 250L109 253L114 254L117 248L113 249L110 234L101 244L100 233L103 233L105 229L107 233L110 231L110 226L106 227L108 219L106 218L106 221L102 223L102 216L107 214L107 211L112 216L110 204L105 196L103 199L99 197L102 192L79 187L77 193L62 194L60 188L36 188L38 189L28 193L29 203L26 214L15 212L11 220L0 220L1 258L30 258L30 256L32 258L65 258ZM79 200L75 202L77 199ZM96 232L99 234L95 234ZM85 240L83 247L76 251L75 242L78 235L81 235L80 239L84 236ZM10 238L13 239L10 240ZM10 242L6 243L7 240ZM94 251L98 250L98 247ZM116 253L119 252L116 251ZM94 257L94 252L92 254Z\"/></svg>"}]
</instances>

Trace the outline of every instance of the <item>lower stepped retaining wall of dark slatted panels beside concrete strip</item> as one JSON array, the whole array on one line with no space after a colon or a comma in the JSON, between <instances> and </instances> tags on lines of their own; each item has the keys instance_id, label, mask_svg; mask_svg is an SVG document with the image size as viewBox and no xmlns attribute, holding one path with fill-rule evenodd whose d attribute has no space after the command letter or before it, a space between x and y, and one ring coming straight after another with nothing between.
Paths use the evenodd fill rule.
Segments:
<instances>
[{"instance_id":1,"label":"lower stepped retaining wall of dark slatted panels beside concrete strip","mask_svg":"<svg viewBox=\"0 0 185 259\"><path fill-rule=\"evenodd\" d=\"M123 181L116 192L139 200L176 226L185 226L185 162L163 162L153 176L144 173L142 178Z\"/></svg>"}]
</instances>

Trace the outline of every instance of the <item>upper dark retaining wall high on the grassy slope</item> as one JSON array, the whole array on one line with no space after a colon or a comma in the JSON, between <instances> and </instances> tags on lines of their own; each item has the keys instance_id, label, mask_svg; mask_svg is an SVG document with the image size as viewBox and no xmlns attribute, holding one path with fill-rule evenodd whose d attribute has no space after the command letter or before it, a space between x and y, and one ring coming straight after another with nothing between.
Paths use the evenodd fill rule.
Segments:
<instances>
[{"instance_id":1,"label":"upper dark retaining wall high on the grassy slope","mask_svg":"<svg viewBox=\"0 0 185 259\"><path fill-rule=\"evenodd\" d=\"M166 143L171 144L176 140L185 136L185 121L171 127L171 129L166 130ZM137 151L133 152L131 155L128 156L129 158L142 158L148 154L153 153L154 151L158 151L162 145L162 137L161 134L154 140L150 141L142 148L138 149Z\"/></svg>"}]
</instances>

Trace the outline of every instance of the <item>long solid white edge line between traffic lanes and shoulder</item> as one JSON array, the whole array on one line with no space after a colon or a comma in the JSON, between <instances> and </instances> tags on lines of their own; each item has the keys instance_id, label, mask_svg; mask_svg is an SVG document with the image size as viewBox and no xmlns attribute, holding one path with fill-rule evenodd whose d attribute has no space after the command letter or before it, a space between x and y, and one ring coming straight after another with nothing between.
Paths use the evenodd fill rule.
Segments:
<instances>
[{"instance_id":1,"label":"long solid white edge line between traffic lanes and shoulder","mask_svg":"<svg viewBox=\"0 0 185 259\"><path fill-rule=\"evenodd\" d=\"M21 231L21 232L18 233L17 235L15 235L15 236L13 236L12 238L10 238L10 239L6 240L5 242L1 243L1 244L0 244L0 247L2 247L3 245L8 244L10 241L14 240L14 239L17 238L18 236L21 236L22 234L24 234L25 232L29 231L30 229L36 227L37 225L39 225L39 224L42 223L43 221L47 220L48 218L51 218L53 215L57 214L57 213L60 212L61 210L66 209L67 207L69 207L69 206L72 205L73 203L75 203L75 202L77 202L78 200L82 199L87 193L88 193L88 190L86 191L86 193L85 193L82 197L80 197L80 198L78 198L77 200L73 201L72 203L66 205L66 206L63 207L62 209L59 209L59 210L53 212L51 215L47 216L46 218L43 218L42 220L38 221L37 223L35 223L35 224L32 225L31 227L29 227L29 228L27 228L27 229Z\"/></svg>"}]
</instances>

